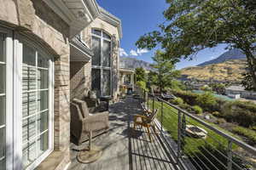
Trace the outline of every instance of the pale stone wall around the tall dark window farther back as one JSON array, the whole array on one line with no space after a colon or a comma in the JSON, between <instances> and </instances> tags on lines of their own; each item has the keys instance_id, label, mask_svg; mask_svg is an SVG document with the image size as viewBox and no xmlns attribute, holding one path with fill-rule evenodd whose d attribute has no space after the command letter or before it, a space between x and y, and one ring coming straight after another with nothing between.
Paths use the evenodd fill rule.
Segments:
<instances>
[{"instance_id":1,"label":"pale stone wall around the tall dark window farther back","mask_svg":"<svg viewBox=\"0 0 256 170\"><path fill-rule=\"evenodd\" d=\"M119 31L118 28L108 24L108 22L96 19L83 31L84 42L90 47L91 29L96 28L107 32L113 37L112 59L113 59L113 99L116 100L119 94Z\"/></svg>"}]
</instances>

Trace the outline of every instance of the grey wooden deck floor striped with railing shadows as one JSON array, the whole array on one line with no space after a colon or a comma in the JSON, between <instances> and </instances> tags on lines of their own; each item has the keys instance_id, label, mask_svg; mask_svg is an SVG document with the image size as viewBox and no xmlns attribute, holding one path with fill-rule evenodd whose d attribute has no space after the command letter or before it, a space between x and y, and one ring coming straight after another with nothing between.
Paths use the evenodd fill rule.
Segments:
<instances>
[{"instance_id":1,"label":"grey wooden deck floor striped with railing shadows","mask_svg":"<svg viewBox=\"0 0 256 170\"><path fill-rule=\"evenodd\" d=\"M80 146L71 144L70 170L174 169L157 135L153 135L150 143L145 129L133 130L132 116L142 112L137 99L127 97L111 105L109 111L110 130L93 139L93 144L102 148L102 157L90 164L79 163L76 156L88 142Z\"/></svg>"}]
</instances>

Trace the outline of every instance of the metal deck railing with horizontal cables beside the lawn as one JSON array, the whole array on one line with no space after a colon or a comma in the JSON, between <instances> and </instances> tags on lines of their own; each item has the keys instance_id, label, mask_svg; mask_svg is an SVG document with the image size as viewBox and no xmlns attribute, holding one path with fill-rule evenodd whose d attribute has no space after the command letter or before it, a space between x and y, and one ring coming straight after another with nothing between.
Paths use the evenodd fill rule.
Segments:
<instances>
[{"instance_id":1,"label":"metal deck railing with horizontal cables beside the lawn","mask_svg":"<svg viewBox=\"0 0 256 170\"><path fill-rule=\"evenodd\" d=\"M190 122L189 120L186 121L186 119L185 119L186 116L191 118L195 122L199 123L199 125L201 125L203 127L206 127L207 129L211 130L211 132L215 133L215 135L217 134L221 138L225 139L225 141L227 141L227 143L224 142L224 144L221 144L221 145L223 145L223 149L221 149L221 150L225 150L225 152L221 153L221 155L224 156L226 161L224 161L223 158L218 158L218 157L212 155L214 152L212 153L211 150L207 150L204 146L202 146L203 150L207 151L207 154L210 154L211 156L213 156L213 158L205 156L205 154L203 152L201 152L201 154L202 154L201 156L203 156L205 159L207 159L207 161L209 161L208 163L210 163L211 166L215 167L215 169L217 167L216 167L216 165L213 162L214 160L212 160L212 159L217 160L222 166L224 166L224 169L227 169L227 170L232 170L233 167L234 168L238 167L238 169L242 169L242 170L243 169L247 169L244 166L249 165L249 164L252 165L253 167L255 167L255 164L253 162L248 161L247 158L241 156L240 154L237 154L236 151L232 149L232 145L236 144L236 146L242 148L247 153L250 153L253 156L256 156L256 148L254 148L253 146L251 146L249 144L246 144L245 142L241 141L240 139L236 139L236 137L231 136L229 133L225 133L221 129L218 129L218 127L212 126L210 123L203 121L201 118L199 118L199 117L189 113L188 111L184 111L183 109L179 108L177 105L172 105L171 103L169 103L165 99L161 99L160 96L155 96L154 94L150 94L150 93L148 93L148 92L146 92L144 90L141 90L140 92L141 92L140 95L143 98L143 101L145 103L147 103L148 106L150 105L150 107L152 107L151 109L155 109L157 107L160 109L161 115L160 115L160 119L159 119L159 122L158 122L158 124L159 124L158 126L160 126L159 127L160 134L161 134L162 138L165 141L168 141L169 137L171 138L171 140L173 140L173 138L172 138L172 135L171 136L167 135L167 136L169 136L167 138L166 138L166 135L163 135L164 133L166 133L166 130L168 130L168 129L163 130L164 122L166 120L166 117L163 116L163 115L165 115L165 111L163 110L163 104L171 106L173 109L177 110L177 122L175 122L175 126L177 126L177 127L175 127L175 129L177 128L177 134L175 134L175 136L177 135L177 140L175 140L175 143L177 144L177 146L174 146L174 148L177 148L177 150L173 150L172 149L172 147L173 147L172 144L168 145L168 142L166 144L167 144L168 150L171 151L171 153L172 152L174 153L173 156L177 160L176 161L177 166L180 167L181 169L184 170L184 169L188 169L188 167L191 168L190 164L192 163L192 162L190 162L190 164L187 165L188 167L183 167L182 166L183 165L183 161L184 161L184 159L183 159L184 155L183 154L186 155L186 153L187 153L186 150L189 149L189 148L187 148L187 149L184 150L183 149L183 144L182 144L183 143L183 139L184 139L183 136L186 135L186 133L182 130L184 128L184 125L186 124L186 123L183 124L183 120L185 122ZM159 102L158 105L155 105L156 101ZM167 121L168 121L168 119L167 119ZM192 125L193 125L193 123L192 123ZM209 138L214 138L214 137L212 137L212 135L209 135ZM207 141L206 139L202 139L202 140L204 140L205 142ZM193 141L193 142L196 142L196 141ZM218 140L216 140L215 142L218 143ZM209 144L212 145L212 143L209 143ZM218 144L220 144L220 143L218 143ZM214 151L217 151L218 154L221 152L221 150L219 150L218 148L213 147L212 149ZM196 156L195 153L192 153L192 155L188 155L188 156L190 157L189 160L192 159L192 161L194 161L194 163L197 164L197 162L195 162L195 160L193 160L194 159L193 157ZM240 163L237 163L237 161L234 161L233 156L240 157L239 159L241 159L241 161L243 163L240 164ZM196 156L196 157L197 157L196 159L199 159L198 156ZM195 166L194 163L192 163L193 164L192 167ZM198 164L196 166L198 166ZM203 166L202 169L204 169L204 168L205 167ZM201 169L201 166L200 166L200 169ZM207 167L207 169L209 169L209 168ZM219 167L217 169L219 169ZM223 169L223 167L221 167L220 169Z\"/></svg>"}]
</instances>

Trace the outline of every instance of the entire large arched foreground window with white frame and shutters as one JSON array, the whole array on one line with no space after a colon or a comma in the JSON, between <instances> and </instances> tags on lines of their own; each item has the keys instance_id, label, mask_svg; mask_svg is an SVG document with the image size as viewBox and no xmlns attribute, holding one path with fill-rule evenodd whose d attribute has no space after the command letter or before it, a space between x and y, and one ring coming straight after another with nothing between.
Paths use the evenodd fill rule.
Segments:
<instances>
[{"instance_id":1,"label":"entire large arched foreground window with white frame and shutters","mask_svg":"<svg viewBox=\"0 0 256 170\"><path fill-rule=\"evenodd\" d=\"M34 169L53 150L53 60L13 33L0 27L0 170Z\"/></svg>"}]
</instances>

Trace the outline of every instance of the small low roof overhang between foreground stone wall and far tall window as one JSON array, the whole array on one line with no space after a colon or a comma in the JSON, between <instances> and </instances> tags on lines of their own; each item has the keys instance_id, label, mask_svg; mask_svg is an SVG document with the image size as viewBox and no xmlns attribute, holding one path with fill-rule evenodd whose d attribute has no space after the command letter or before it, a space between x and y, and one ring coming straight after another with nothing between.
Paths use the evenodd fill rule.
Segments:
<instances>
[{"instance_id":1,"label":"small low roof overhang between foreground stone wall and far tall window","mask_svg":"<svg viewBox=\"0 0 256 170\"><path fill-rule=\"evenodd\" d=\"M86 47L83 42L77 37L73 37L70 41L70 60L88 62L91 59L93 52Z\"/></svg>"}]
</instances>

